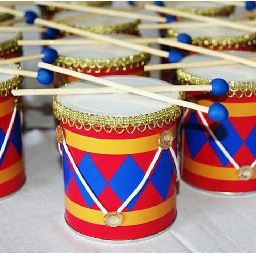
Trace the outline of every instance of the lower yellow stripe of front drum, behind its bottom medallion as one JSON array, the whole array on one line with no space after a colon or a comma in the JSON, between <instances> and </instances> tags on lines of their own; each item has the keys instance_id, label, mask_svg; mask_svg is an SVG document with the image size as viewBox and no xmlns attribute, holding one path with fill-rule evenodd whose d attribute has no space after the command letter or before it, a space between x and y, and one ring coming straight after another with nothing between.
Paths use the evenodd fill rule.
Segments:
<instances>
[{"instance_id":1,"label":"lower yellow stripe of front drum, behind its bottom medallion","mask_svg":"<svg viewBox=\"0 0 256 253\"><path fill-rule=\"evenodd\" d=\"M175 203L176 192L165 202L157 206L138 211L121 212L123 216L123 222L120 226L133 226L157 220L169 213L172 208L175 207ZM97 225L105 225L105 223L103 222L104 214L102 213L102 211L80 206L79 204L71 201L66 195L65 207L69 213L71 213L80 220L84 220L86 222Z\"/></svg>"}]
</instances>

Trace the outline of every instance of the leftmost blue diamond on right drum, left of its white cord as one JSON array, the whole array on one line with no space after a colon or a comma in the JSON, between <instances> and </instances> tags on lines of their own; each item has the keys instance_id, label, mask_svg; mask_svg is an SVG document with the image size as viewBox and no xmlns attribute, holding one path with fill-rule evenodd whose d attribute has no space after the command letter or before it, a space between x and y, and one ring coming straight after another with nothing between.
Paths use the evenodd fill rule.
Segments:
<instances>
[{"instance_id":1,"label":"leftmost blue diamond on right drum, left of its white cord","mask_svg":"<svg viewBox=\"0 0 256 253\"><path fill-rule=\"evenodd\" d=\"M188 150L192 159L201 150L206 143L207 138L203 132L203 129L199 125L198 119L195 113L191 113L188 122L186 123L185 136L187 140Z\"/></svg>"}]
</instances>

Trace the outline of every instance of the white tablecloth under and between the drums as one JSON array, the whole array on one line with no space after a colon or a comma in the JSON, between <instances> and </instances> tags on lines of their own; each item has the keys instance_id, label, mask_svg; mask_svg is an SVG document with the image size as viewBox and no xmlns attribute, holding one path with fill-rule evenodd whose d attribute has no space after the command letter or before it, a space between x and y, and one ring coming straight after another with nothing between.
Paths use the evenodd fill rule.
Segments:
<instances>
[{"instance_id":1,"label":"white tablecloth under and between the drums","mask_svg":"<svg viewBox=\"0 0 256 253\"><path fill-rule=\"evenodd\" d=\"M126 6L126 2L114 6ZM146 31L143 35L157 34ZM25 38L31 36L39 38L35 33L25 34ZM39 47L24 49L25 55L40 51ZM153 57L150 63L158 61ZM37 69L37 61L22 65ZM40 87L32 78L25 78L24 84L25 88ZM158 237L133 244L104 244L75 234L64 220L63 175L51 101L49 96L25 99L27 180L20 191L0 201L0 252L255 252L255 195L209 195L184 182L177 197L177 220Z\"/></svg>"}]
</instances>

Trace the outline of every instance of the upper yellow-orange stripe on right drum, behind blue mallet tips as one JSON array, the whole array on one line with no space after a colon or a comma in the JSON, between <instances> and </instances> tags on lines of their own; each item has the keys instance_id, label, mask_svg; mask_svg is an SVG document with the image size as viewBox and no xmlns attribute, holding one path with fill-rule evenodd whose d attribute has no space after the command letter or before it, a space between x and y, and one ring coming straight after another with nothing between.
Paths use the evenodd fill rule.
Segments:
<instances>
[{"instance_id":1,"label":"upper yellow-orange stripe on right drum, behind blue mallet tips","mask_svg":"<svg viewBox=\"0 0 256 253\"><path fill-rule=\"evenodd\" d=\"M210 106L213 102L209 100L198 100L199 105ZM256 102L250 103L222 103L229 112L230 117L256 116Z\"/></svg>"}]
</instances>

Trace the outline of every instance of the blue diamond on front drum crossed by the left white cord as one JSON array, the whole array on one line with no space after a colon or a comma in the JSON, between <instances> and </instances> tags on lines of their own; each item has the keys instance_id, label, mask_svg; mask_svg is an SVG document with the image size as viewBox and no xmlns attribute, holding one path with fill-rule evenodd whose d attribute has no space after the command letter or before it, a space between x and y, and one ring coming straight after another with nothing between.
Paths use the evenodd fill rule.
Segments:
<instances>
[{"instance_id":1,"label":"blue diamond on front drum crossed by the left white cord","mask_svg":"<svg viewBox=\"0 0 256 253\"><path fill-rule=\"evenodd\" d=\"M88 153L84 155L81 162L78 165L78 169L80 173L82 174L82 177L94 193L96 197L100 195L100 193L103 191L103 189L106 187L107 182L97 169L94 162L92 162L92 159ZM90 195L85 190L85 187L82 185L80 179L74 173L74 179L76 181L76 184L78 185L78 188L87 204L88 207L91 207L91 205L94 203Z\"/></svg>"}]
</instances>

